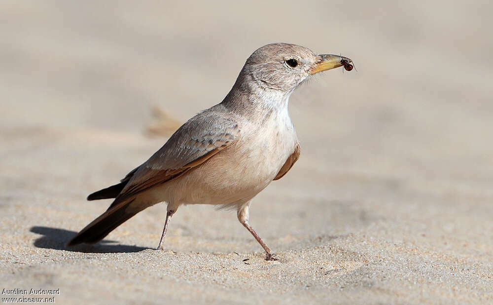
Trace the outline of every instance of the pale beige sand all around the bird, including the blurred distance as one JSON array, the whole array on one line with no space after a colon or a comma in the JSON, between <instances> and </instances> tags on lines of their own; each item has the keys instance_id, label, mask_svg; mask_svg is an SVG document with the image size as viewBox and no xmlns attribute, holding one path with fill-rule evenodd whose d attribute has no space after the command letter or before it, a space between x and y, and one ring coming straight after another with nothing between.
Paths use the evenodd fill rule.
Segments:
<instances>
[{"instance_id":1,"label":"pale beige sand all around the bird, including the blurred distance","mask_svg":"<svg viewBox=\"0 0 493 305\"><path fill-rule=\"evenodd\" d=\"M0 289L60 289L58 304L493 303L491 2L105 3L0 4ZM145 135L152 106L185 121L278 41L358 69L291 97L301 158L250 217L280 262L211 206L180 208L164 252L164 204L64 246L109 205L87 194L166 141Z\"/></svg>"}]
</instances>

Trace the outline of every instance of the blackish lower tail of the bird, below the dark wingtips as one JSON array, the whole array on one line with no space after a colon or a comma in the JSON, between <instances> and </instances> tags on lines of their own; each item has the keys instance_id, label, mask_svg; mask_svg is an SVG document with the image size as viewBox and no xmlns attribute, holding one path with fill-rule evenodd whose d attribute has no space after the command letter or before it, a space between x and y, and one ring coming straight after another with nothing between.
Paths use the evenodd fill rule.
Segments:
<instances>
[{"instance_id":1,"label":"blackish lower tail of the bird, below the dark wingtips","mask_svg":"<svg viewBox=\"0 0 493 305\"><path fill-rule=\"evenodd\" d=\"M95 243L105 238L109 232L116 229L116 227L141 211L139 208L127 209L134 200L135 198L127 202L121 202L114 208L107 210L75 235L67 245L73 246L80 243ZM131 211L129 212L127 210Z\"/></svg>"}]
</instances>

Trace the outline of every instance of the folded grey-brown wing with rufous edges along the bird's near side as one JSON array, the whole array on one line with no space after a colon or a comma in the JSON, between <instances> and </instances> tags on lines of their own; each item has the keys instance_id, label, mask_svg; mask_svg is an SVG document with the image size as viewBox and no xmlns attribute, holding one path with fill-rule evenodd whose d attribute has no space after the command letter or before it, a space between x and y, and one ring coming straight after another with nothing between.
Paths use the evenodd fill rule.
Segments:
<instances>
[{"instance_id":1,"label":"folded grey-brown wing with rufous edges along the bird's near side","mask_svg":"<svg viewBox=\"0 0 493 305\"><path fill-rule=\"evenodd\" d=\"M125 188L110 208L142 191L168 182L230 146L238 137L236 120L206 110L183 124L145 163L127 175Z\"/></svg>"}]
</instances>

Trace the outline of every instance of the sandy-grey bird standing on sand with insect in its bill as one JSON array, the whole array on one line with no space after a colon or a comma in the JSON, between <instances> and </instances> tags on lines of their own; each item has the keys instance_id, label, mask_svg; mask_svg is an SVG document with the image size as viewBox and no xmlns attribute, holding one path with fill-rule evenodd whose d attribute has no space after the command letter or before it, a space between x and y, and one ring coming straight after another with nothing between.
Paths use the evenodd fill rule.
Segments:
<instances>
[{"instance_id":1,"label":"sandy-grey bird standing on sand with insect in its bill","mask_svg":"<svg viewBox=\"0 0 493 305\"><path fill-rule=\"evenodd\" d=\"M258 48L221 103L190 118L120 183L87 197L114 200L68 246L96 243L142 210L165 202L167 214L156 249L163 250L179 206L211 204L236 209L240 223L265 250L266 260L279 260L249 223L251 200L281 179L300 155L288 112L291 93L311 76L349 63L347 57L317 55L296 44Z\"/></svg>"}]
</instances>

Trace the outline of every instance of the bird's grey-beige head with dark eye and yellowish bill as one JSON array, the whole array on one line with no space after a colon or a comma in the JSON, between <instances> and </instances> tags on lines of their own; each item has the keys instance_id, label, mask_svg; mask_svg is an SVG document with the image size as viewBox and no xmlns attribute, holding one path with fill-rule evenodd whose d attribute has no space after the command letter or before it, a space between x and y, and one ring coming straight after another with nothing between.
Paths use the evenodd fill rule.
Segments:
<instances>
[{"instance_id":1,"label":"bird's grey-beige head with dark eye and yellowish bill","mask_svg":"<svg viewBox=\"0 0 493 305\"><path fill-rule=\"evenodd\" d=\"M253 52L242 72L260 88L290 93L310 76L351 62L339 55L316 55L296 44L272 43Z\"/></svg>"}]
</instances>

